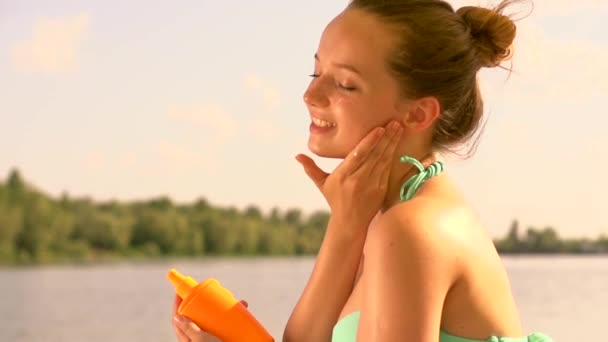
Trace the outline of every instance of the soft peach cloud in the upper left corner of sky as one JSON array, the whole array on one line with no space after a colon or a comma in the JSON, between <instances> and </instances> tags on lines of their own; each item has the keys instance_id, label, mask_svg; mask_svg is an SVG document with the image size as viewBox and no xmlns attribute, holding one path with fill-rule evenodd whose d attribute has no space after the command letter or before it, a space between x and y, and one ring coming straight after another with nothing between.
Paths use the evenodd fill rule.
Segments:
<instances>
[{"instance_id":1,"label":"soft peach cloud in the upper left corner of sky","mask_svg":"<svg viewBox=\"0 0 608 342\"><path fill-rule=\"evenodd\" d=\"M74 17L43 18L32 36L15 44L14 66L20 71L60 73L77 66L77 52L89 27L86 13Z\"/></svg>"}]
</instances>

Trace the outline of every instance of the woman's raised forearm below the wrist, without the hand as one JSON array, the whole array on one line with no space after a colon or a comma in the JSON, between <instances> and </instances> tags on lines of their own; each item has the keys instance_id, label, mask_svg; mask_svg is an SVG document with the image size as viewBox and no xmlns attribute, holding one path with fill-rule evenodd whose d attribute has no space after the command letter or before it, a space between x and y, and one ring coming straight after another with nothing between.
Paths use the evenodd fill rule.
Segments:
<instances>
[{"instance_id":1,"label":"woman's raised forearm below the wrist, without the hand","mask_svg":"<svg viewBox=\"0 0 608 342\"><path fill-rule=\"evenodd\" d=\"M352 291L365 242L363 234L340 232L345 224L330 218L308 284L285 327L284 342L331 340L333 326Z\"/></svg>"}]
</instances>

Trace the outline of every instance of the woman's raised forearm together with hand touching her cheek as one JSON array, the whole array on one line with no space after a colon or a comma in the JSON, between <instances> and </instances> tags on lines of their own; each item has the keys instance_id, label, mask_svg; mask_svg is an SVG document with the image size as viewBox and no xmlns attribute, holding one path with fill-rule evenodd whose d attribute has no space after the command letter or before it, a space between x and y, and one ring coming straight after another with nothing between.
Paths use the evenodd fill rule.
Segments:
<instances>
[{"instance_id":1,"label":"woman's raised forearm together with hand touching her cheek","mask_svg":"<svg viewBox=\"0 0 608 342\"><path fill-rule=\"evenodd\" d=\"M331 217L311 277L285 327L284 342L330 341L352 291L367 228L386 196L401 133L396 122L372 130L331 174L298 156L327 200Z\"/></svg>"}]
</instances>

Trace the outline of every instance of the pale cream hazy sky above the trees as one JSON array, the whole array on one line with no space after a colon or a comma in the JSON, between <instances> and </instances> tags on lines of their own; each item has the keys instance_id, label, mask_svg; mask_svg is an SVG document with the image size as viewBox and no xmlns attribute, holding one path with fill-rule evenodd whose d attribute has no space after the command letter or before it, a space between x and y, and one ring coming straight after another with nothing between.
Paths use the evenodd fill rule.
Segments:
<instances>
[{"instance_id":1,"label":"pale cream hazy sky above the trees","mask_svg":"<svg viewBox=\"0 0 608 342\"><path fill-rule=\"evenodd\" d=\"M294 156L311 155L302 94L346 4L0 0L0 181L18 169L52 196L328 210ZM605 0L538 0L514 72L480 72L477 152L446 162L491 235L514 219L608 234L607 21Z\"/></svg>"}]
</instances>

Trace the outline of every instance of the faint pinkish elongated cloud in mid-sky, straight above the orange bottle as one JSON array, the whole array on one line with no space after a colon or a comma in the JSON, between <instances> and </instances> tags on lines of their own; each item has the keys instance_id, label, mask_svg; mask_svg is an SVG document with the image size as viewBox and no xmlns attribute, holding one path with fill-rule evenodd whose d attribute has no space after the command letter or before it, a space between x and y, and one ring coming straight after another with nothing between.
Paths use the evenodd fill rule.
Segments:
<instances>
[{"instance_id":1,"label":"faint pinkish elongated cloud in mid-sky, straight above the orange bottle","mask_svg":"<svg viewBox=\"0 0 608 342\"><path fill-rule=\"evenodd\" d=\"M216 103L172 108L169 110L169 117L198 126L206 136L213 137L217 143L226 142L238 133L238 126L234 118L224 107Z\"/></svg>"}]
</instances>

